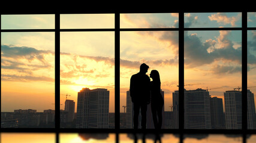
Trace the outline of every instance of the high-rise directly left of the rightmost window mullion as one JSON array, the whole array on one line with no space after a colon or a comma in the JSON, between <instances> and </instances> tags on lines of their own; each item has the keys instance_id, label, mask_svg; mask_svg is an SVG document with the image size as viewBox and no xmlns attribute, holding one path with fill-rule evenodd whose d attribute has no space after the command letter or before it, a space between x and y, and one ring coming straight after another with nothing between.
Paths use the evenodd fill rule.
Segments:
<instances>
[{"instance_id":1,"label":"high-rise directly left of the rightmost window mullion","mask_svg":"<svg viewBox=\"0 0 256 143\"><path fill-rule=\"evenodd\" d=\"M242 129L242 92L225 91L226 129Z\"/></svg>"}]
</instances>

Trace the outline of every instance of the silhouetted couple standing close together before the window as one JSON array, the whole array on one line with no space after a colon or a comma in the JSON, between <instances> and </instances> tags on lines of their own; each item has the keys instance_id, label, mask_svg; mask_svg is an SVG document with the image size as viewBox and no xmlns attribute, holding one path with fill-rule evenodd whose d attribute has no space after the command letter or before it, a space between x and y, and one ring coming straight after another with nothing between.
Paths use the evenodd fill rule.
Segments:
<instances>
[{"instance_id":1,"label":"silhouetted couple standing close together before the window","mask_svg":"<svg viewBox=\"0 0 256 143\"><path fill-rule=\"evenodd\" d=\"M134 105L134 129L138 129L138 114L140 113L140 109L141 128L146 129L147 104L151 104L155 129L161 129L162 127L162 107L164 105L164 99L160 92L160 76L157 70L152 70L150 72L152 82L150 82L150 78L146 74L148 69L149 66L143 63L140 65L140 72L131 76L129 91Z\"/></svg>"}]
</instances>

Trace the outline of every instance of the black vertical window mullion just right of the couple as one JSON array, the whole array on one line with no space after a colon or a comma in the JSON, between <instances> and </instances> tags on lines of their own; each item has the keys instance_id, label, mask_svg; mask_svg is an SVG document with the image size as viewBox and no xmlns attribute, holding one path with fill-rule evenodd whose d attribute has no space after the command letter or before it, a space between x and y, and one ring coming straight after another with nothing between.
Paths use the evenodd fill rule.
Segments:
<instances>
[{"instance_id":1,"label":"black vertical window mullion just right of the couple","mask_svg":"<svg viewBox=\"0 0 256 143\"><path fill-rule=\"evenodd\" d=\"M183 143L184 130L184 12L179 12L179 130Z\"/></svg>"}]
</instances>

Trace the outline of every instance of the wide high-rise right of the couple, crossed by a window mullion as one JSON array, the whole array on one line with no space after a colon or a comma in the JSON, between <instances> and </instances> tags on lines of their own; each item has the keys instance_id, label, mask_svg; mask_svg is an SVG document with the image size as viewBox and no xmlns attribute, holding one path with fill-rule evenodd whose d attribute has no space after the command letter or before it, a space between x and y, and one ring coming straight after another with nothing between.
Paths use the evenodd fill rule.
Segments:
<instances>
[{"instance_id":1,"label":"wide high-rise right of the couple, crossed by a window mullion","mask_svg":"<svg viewBox=\"0 0 256 143\"><path fill-rule=\"evenodd\" d=\"M179 125L179 91L173 93L174 128ZM210 95L209 92L198 88L184 91L184 128L211 129Z\"/></svg>"}]
</instances>

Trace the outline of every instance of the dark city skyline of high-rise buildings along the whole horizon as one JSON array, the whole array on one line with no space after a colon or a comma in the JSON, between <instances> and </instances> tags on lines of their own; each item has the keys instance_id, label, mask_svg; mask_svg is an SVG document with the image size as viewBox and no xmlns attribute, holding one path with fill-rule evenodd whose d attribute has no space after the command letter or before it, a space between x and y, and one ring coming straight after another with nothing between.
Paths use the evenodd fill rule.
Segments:
<instances>
[{"instance_id":1,"label":"dark city skyline of high-rise buildings along the whole horizon","mask_svg":"<svg viewBox=\"0 0 256 143\"><path fill-rule=\"evenodd\" d=\"M161 91L164 97L164 92ZM221 98L211 97L208 89L185 90L184 123L186 129L242 129L242 91L225 91L224 102ZM61 110L62 128L113 128L115 119L109 112L109 91L107 89L83 88L78 92L77 108L75 102L65 101L65 110ZM173 92L173 111L162 109L162 122L164 129L179 128L179 91ZM248 128L256 128L256 113L254 94L247 91L248 97ZM150 105L149 105L150 106ZM127 91L127 111L120 120L121 128L132 128L133 105ZM225 110L225 112L224 112ZM170 114L170 115L168 115ZM115 113L114 113L115 116ZM222 117L223 116L223 117ZM55 122L55 110L14 110L14 112L1 112L3 128L31 128ZM123 119L124 118L124 119ZM139 118L140 120L140 118ZM39 126L40 125L40 126ZM140 125L139 125L140 126ZM52 126L53 127L53 126ZM115 126L114 126L115 127ZM153 128L150 107L147 110L147 129Z\"/></svg>"}]
</instances>

